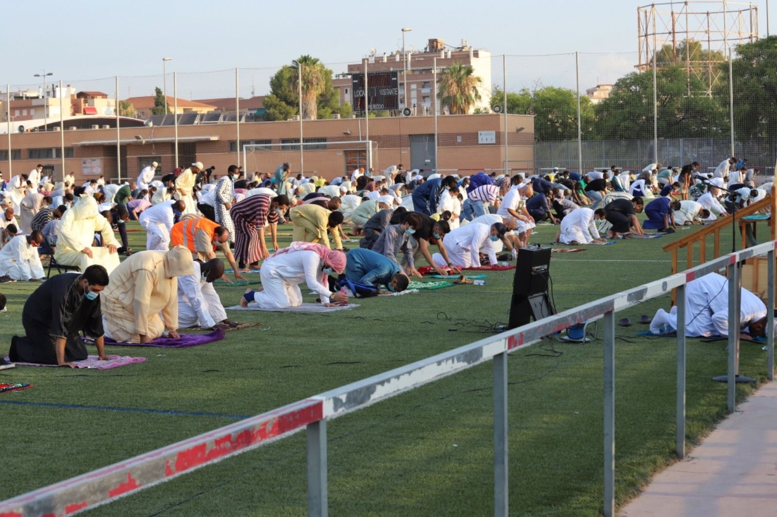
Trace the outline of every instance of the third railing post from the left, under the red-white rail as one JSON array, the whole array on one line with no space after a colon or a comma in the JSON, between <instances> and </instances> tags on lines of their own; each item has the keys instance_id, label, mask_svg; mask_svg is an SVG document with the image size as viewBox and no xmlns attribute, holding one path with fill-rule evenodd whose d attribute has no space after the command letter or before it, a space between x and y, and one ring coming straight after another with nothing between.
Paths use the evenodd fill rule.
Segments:
<instances>
[{"instance_id":1,"label":"third railing post from the left, under the red-white rail","mask_svg":"<svg viewBox=\"0 0 777 517\"><path fill-rule=\"evenodd\" d=\"M605 517L615 515L615 310L605 312Z\"/></svg>"}]
</instances>

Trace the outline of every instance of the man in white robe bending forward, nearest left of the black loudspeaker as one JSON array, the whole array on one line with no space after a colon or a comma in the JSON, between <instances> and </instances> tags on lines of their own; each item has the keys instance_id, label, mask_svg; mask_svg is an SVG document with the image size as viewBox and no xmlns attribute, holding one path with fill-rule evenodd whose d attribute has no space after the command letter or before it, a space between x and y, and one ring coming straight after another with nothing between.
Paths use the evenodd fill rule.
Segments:
<instances>
[{"instance_id":1,"label":"man in white robe bending forward, nearest left of the black loudspeaker","mask_svg":"<svg viewBox=\"0 0 777 517\"><path fill-rule=\"evenodd\" d=\"M451 264L459 268L479 268L481 249L484 255L488 255L490 265L496 265L497 253L493 251L493 242L499 241L505 233L507 233L507 227L501 223L491 226L467 224L445 234L443 244ZM448 264L440 253L432 255L432 260L439 267Z\"/></svg>"}]
</instances>

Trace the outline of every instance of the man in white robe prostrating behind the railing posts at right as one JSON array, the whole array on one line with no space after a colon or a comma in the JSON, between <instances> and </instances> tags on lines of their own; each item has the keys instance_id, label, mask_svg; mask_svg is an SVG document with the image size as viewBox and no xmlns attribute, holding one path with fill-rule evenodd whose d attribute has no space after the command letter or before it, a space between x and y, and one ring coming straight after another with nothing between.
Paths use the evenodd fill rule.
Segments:
<instances>
[{"instance_id":1,"label":"man in white robe prostrating behind the railing posts at right","mask_svg":"<svg viewBox=\"0 0 777 517\"><path fill-rule=\"evenodd\" d=\"M751 336L763 337L767 311L760 298L744 287L740 292L740 328ZM685 335L701 337L728 335L728 279L709 273L685 285ZM676 329L677 307L670 312L659 309L650 322L650 331L660 334L662 325Z\"/></svg>"}]
</instances>

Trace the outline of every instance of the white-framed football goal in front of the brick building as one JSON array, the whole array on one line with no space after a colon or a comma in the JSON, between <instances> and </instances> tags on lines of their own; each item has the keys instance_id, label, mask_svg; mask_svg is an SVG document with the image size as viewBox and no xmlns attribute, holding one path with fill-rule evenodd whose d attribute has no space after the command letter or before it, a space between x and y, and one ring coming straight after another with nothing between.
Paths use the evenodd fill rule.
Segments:
<instances>
[{"instance_id":1,"label":"white-framed football goal in front of the brick building","mask_svg":"<svg viewBox=\"0 0 777 517\"><path fill-rule=\"evenodd\" d=\"M267 143L265 143L267 142ZM265 172L274 174L278 165L291 165L291 174L316 173L325 179L349 175L355 168L374 167L376 171L389 165L378 160L378 144L373 140L329 142L326 138L305 138L302 143L249 141L242 146L243 165L246 174Z\"/></svg>"}]
</instances>

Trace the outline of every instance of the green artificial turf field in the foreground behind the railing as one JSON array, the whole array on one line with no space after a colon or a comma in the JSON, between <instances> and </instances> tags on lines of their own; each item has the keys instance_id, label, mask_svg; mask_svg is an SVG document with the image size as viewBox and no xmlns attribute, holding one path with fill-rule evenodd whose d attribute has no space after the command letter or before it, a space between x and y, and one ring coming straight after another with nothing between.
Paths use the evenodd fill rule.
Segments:
<instances>
[{"instance_id":1,"label":"green artificial turf field in the foreground behind the railing","mask_svg":"<svg viewBox=\"0 0 777 517\"><path fill-rule=\"evenodd\" d=\"M661 247L688 231L554 253L557 308L667 276L670 257ZM547 245L555 233L540 225L532 242ZM144 248L142 231L130 238L135 251ZM723 243L729 241L724 235ZM0 500L483 338L483 328L507 322L513 272L486 274L485 286L358 300L361 307L334 314L230 312L233 320L263 325L192 349L108 347L148 358L115 370L0 371L0 382L34 385L0 394ZM0 286L9 300L8 312L0 313L2 352L23 331L21 310L35 287ZM245 290L217 289L225 306L237 304ZM635 323L616 327L618 504L674 460L675 341L634 337L647 330L636 323L639 314L652 317L668 306L668 297L648 300L617 316ZM545 339L510 356L511 515L601 514L599 335L586 345ZM726 373L725 347L688 340L691 443L725 416L726 386L710 381ZM764 380L760 345L743 343L740 371ZM490 515L491 383L486 363L329 422L331 515ZM739 386L740 398L751 389ZM64 407L78 404L99 408ZM88 513L305 515L305 468L299 433Z\"/></svg>"}]
</instances>

